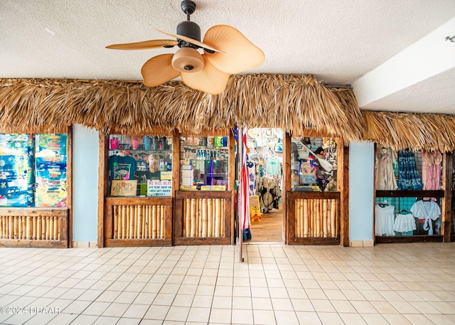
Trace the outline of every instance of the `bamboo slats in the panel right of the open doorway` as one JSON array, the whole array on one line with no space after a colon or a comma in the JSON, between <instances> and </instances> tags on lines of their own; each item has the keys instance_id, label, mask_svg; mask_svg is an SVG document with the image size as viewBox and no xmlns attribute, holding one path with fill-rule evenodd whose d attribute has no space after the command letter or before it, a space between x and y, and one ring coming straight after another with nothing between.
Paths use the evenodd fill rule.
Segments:
<instances>
[{"instance_id":1,"label":"bamboo slats in the panel right of the open doorway","mask_svg":"<svg viewBox=\"0 0 455 325\"><path fill-rule=\"evenodd\" d=\"M296 198L295 237L337 237L339 204L336 198Z\"/></svg>"}]
</instances>

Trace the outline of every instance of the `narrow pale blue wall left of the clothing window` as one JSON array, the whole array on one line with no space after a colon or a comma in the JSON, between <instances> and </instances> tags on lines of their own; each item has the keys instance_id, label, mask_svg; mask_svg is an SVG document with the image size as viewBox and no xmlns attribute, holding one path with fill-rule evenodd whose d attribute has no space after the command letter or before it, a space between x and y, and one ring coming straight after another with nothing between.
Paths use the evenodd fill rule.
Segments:
<instances>
[{"instance_id":1,"label":"narrow pale blue wall left of the clothing window","mask_svg":"<svg viewBox=\"0 0 455 325\"><path fill-rule=\"evenodd\" d=\"M374 151L370 142L349 146L349 240L373 240Z\"/></svg>"}]
</instances>

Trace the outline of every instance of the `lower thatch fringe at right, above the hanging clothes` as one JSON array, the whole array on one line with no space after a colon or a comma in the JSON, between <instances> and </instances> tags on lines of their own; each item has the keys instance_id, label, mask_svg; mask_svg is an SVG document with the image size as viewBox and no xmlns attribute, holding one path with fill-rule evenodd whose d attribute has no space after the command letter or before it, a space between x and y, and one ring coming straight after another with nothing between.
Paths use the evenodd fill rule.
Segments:
<instances>
[{"instance_id":1,"label":"lower thatch fringe at right, above the hanging clothes","mask_svg":"<svg viewBox=\"0 0 455 325\"><path fill-rule=\"evenodd\" d=\"M363 111L363 139L395 150L455 150L455 116Z\"/></svg>"}]
</instances>

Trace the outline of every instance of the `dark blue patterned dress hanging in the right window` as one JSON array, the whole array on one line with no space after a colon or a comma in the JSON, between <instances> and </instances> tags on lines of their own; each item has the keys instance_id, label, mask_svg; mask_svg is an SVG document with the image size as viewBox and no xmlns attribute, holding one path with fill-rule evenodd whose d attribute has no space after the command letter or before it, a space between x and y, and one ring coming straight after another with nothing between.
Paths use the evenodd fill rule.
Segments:
<instances>
[{"instance_id":1,"label":"dark blue patterned dress hanging in the right window","mask_svg":"<svg viewBox=\"0 0 455 325\"><path fill-rule=\"evenodd\" d=\"M410 149L398 151L398 189L402 191L421 191L423 188L422 179L417 171L414 152Z\"/></svg>"}]
</instances>

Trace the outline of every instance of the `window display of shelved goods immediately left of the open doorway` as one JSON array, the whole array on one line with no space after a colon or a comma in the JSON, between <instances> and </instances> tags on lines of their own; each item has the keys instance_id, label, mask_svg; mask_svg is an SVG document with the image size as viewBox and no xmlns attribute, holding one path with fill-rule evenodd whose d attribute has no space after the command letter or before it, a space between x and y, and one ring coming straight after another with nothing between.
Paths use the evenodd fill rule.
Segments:
<instances>
[{"instance_id":1,"label":"window display of shelved goods immediately left of the open doorway","mask_svg":"<svg viewBox=\"0 0 455 325\"><path fill-rule=\"evenodd\" d=\"M228 190L228 137L181 137L183 191Z\"/></svg>"}]
</instances>

